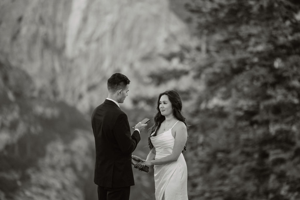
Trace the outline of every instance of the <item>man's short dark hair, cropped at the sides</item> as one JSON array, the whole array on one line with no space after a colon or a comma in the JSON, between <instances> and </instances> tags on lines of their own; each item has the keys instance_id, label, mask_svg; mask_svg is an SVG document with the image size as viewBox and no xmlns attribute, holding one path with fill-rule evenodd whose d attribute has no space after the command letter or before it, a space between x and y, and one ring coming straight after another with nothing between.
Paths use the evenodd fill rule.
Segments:
<instances>
[{"instance_id":1,"label":"man's short dark hair, cropped at the sides","mask_svg":"<svg viewBox=\"0 0 300 200\"><path fill-rule=\"evenodd\" d=\"M108 91L115 93L119 89L124 89L129 83L130 80L127 78L127 76L123 75L122 73L114 73L107 80L107 89Z\"/></svg>"}]
</instances>

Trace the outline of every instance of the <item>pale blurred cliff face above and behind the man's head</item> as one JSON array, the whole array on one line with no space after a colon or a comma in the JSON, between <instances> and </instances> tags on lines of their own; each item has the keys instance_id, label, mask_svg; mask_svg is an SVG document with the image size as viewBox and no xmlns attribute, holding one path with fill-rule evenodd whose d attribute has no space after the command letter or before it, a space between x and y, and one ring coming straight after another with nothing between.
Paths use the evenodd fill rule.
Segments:
<instances>
[{"instance_id":1,"label":"pale blurred cliff face above and behind the man's head","mask_svg":"<svg viewBox=\"0 0 300 200\"><path fill-rule=\"evenodd\" d=\"M170 66L161 55L190 41L167 0L5 0L0 11L0 59L33 78L35 95L84 112L107 96L112 73L137 77L139 94L145 74Z\"/></svg>"}]
</instances>

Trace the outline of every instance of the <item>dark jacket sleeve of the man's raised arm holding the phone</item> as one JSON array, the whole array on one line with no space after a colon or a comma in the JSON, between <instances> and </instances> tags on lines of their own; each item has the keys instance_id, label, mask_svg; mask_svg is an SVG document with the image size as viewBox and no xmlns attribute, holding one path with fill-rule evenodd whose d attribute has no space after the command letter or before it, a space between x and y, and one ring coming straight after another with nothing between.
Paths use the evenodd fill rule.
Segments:
<instances>
[{"instance_id":1,"label":"dark jacket sleeve of the man's raised arm holding the phone","mask_svg":"<svg viewBox=\"0 0 300 200\"><path fill-rule=\"evenodd\" d=\"M131 154L141 140L137 130L131 135L128 118L125 113L119 115L117 118L113 133L124 154Z\"/></svg>"}]
</instances>

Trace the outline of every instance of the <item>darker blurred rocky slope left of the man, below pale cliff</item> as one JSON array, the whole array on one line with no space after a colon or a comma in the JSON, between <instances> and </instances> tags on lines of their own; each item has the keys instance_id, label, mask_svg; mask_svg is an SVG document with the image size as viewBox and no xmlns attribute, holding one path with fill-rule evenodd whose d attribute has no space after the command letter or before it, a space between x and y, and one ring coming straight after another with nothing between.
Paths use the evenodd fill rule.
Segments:
<instances>
[{"instance_id":1,"label":"darker blurred rocky slope left of the man, below pale cliff","mask_svg":"<svg viewBox=\"0 0 300 200\"><path fill-rule=\"evenodd\" d=\"M85 116L35 97L20 68L0 62L0 78L0 199L89 199L94 142Z\"/></svg>"}]
</instances>

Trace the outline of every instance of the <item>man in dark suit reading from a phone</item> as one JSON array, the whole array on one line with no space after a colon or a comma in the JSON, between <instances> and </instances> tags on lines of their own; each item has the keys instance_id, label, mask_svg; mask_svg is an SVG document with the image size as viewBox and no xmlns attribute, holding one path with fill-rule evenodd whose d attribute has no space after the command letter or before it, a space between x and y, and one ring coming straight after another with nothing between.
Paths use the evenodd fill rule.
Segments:
<instances>
[{"instance_id":1,"label":"man in dark suit reading from a phone","mask_svg":"<svg viewBox=\"0 0 300 200\"><path fill-rule=\"evenodd\" d=\"M130 186L134 185L131 163L144 161L131 153L147 124L138 123L131 135L127 115L119 106L128 96L129 83L125 75L113 74L107 80L107 99L92 114L96 146L94 182L98 185L99 200L128 200Z\"/></svg>"}]
</instances>

